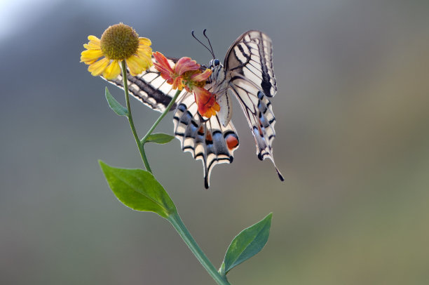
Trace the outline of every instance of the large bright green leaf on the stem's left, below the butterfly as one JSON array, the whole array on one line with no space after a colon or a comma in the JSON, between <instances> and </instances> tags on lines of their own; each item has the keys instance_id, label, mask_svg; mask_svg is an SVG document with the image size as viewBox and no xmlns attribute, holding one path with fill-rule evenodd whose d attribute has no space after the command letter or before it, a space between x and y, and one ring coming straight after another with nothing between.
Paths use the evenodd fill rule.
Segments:
<instances>
[{"instance_id":1,"label":"large bright green leaf on the stem's left, below the butterfly","mask_svg":"<svg viewBox=\"0 0 429 285\"><path fill-rule=\"evenodd\" d=\"M99 161L110 189L119 201L136 211L150 211L163 218L177 212L168 193L148 171L114 168Z\"/></svg>"}]
</instances>

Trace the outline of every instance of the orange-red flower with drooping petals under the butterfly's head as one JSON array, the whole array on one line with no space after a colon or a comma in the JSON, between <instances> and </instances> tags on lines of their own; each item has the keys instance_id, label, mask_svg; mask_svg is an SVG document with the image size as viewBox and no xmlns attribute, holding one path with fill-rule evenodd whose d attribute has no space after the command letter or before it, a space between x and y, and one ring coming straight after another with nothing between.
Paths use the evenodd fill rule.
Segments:
<instances>
[{"instance_id":1,"label":"orange-red flower with drooping petals under the butterfly's head","mask_svg":"<svg viewBox=\"0 0 429 285\"><path fill-rule=\"evenodd\" d=\"M205 69L201 71L200 65L191 58L180 58L175 67L171 67L167 58L162 53L156 51L154 53L154 66L161 72L161 77L167 80L168 84L172 84L173 89L186 89L188 92L193 91L195 102L198 106L198 112L201 116L210 118L219 112L220 106L216 102L216 95L207 91L205 81L212 74L212 70Z\"/></svg>"}]
</instances>

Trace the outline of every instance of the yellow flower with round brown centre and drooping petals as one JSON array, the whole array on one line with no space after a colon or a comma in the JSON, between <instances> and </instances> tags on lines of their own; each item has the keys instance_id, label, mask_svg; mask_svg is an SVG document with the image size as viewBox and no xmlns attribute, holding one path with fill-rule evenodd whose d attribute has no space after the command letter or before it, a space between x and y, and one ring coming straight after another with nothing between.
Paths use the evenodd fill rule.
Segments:
<instances>
[{"instance_id":1,"label":"yellow flower with round brown centre and drooping petals","mask_svg":"<svg viewBox=\"0 0 429 285\"><path fill-rule=\"evenodd\" d=\"M89 65L88 72L95 77L114 79L121 73L119 63L122 60L132 76L153 65L151 40L140 38L132 27L123 23L107 28L101 39L88 36L88 40L88 44L83 45L86 51L81 53L81 62Z\"/></svg>"}]
</instances>

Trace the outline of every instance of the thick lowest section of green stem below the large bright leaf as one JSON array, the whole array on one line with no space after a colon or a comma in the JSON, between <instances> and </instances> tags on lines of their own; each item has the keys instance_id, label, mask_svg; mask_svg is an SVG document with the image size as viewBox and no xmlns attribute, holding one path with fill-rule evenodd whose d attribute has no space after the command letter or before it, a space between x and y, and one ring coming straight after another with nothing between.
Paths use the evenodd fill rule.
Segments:
<instances>
[{"instance_id":1,"label":"thick lowest section of green stem below the large bright leaf","mask_svg":"<svg viewBox=\"0 0 429 285\"><path fill-rule=\"evenodd\" d=\"M177 230L180 237L184 240L185 244L191 249L192 253L198 261L203 265L205 270L210 274L210 276L216 281L219 285L231 285L226 278L222 277L219 272L217 272L216 268L212 265L210 260L205 256L201 248L196 243L195 239L191 236L188 229L186 229L186 226L182 222L182 219L180 218L179 214L177 212L170 214L168 216L168 221L172 224L173 227Z\"/></svg>"}]
</instances>

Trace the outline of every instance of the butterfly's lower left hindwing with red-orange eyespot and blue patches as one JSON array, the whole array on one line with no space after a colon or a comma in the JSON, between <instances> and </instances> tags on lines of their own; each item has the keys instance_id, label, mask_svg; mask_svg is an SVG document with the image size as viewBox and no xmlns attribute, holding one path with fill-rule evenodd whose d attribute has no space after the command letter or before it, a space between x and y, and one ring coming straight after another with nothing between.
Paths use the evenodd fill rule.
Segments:
<instances>
[{"instance_id":1,"label":"butterfly's lower left hindwing with red-orange eyespot and blue patches","mask_svg":"<svg viewBox=\"0 0 429 285\"><path fill-rule=\"evenodd\" d=\"M236 128L231 122L223 126L217 116L203 119L191 93L184 94L182 100L177 102L173 121L182 150L191 152L194 159L203 161L204 185L207 189L213 166L233 161L233 151L239 145Z\"/></svg>"}]
</instances>

